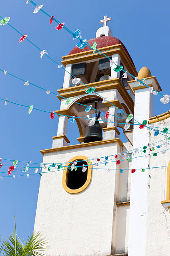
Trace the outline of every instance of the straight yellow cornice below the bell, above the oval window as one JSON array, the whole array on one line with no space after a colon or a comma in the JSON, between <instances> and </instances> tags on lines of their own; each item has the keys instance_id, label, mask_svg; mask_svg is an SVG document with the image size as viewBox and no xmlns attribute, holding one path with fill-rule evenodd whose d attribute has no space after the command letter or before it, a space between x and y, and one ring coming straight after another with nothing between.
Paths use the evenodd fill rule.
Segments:
<instances>
[{"instance_id":1,"label":"straight yellow cornice below the bell, above the oval window","mask_svg":"<svg viewBox=\"0 0 170 256\"><path fill-rule=\"evenodd\" d=\"M120 146L123 146L123 143L120 140L120 138L115 138L115 139L105 140L105 141L95 141L95 142L88 142L88 143L84 143L84 144L63 146L63 147L58 147L58 148L48 148L48 149L40 150L40 152L42 155L44 155L46 153L52 153L52 152L56 152L56 151L70 150L73 148L85 148L85 147L98 146L98 145L109 144L109 143L119 143Z\"/></svg>"}]
</instances>

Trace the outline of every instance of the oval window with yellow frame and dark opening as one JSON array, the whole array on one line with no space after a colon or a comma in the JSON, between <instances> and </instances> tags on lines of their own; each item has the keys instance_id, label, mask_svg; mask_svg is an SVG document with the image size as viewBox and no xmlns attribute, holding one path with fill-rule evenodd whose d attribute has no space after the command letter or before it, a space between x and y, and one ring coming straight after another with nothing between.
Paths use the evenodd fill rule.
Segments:
<instances>
[{"instance_id":1,"label":"oval window with yellow frame and dark opening","mask_svg":"<svg viewBox=\"0 0 170 256\"><path fill-rule=\"evenodd\" d=\"M91 161L87 164L86 156L76 156L65 165L62 186L69 193L79 193L90 183L92 174Z\"/></svg>"}]
</instances>

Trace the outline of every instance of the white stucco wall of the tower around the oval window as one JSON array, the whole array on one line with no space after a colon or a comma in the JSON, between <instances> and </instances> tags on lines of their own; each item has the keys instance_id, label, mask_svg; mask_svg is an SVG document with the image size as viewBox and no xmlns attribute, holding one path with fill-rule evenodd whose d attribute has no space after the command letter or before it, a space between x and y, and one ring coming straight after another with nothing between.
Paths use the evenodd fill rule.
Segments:
<instances>
[{"instance_id":1,"label":"white stucco wall of the tower around the oval window","mask_svg":"<svg viewBox=\"0 0 170 256\"><path fill-rule=\"evenodd\" d=\"M112 143L48 153L43 162L65 162L76 155L91 159L117 152L120 152L119 144ZM115 166L115 163L107 164L107 168ZM105 168L104 164L102 168ZM110 255L113 205L116 203L115 177L115 170L93 169L87 189L78 194L69 194L62 187L62 171L42 174L35 230L50 241L47 255Z\"/></svg>"}]
</instances>

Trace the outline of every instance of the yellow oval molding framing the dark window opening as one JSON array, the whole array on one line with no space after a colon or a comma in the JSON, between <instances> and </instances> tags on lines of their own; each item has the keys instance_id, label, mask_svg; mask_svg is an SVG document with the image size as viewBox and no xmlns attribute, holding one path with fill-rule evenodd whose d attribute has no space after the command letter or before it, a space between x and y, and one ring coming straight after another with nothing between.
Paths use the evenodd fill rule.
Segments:
<instances>
[{"instance_id":1,"label":"yellow oval molding framing the dark window opening","mask_svg":"<svg viewBox=\"0 0 170 256\"><path fill-rule=\"evenodd\" d=\"M80 193L83 190L86 189L86 187L90 184L91 181L91 177L92 177L92 162L90 161L88 164L88 170L87 170L87 180L85 182L85 184L78 188L78 189L70 189L69 187L67 187L67 175L68 175L68 166L70 162L73 162L75 160L80 161L80 160L87 160L88 157L87 156L74 156L72 157L67 164L65 164L65 170L63 171L62 174L62 187L65 189L66 192L70 193L70 194L76 194L76 193Z\"/></svg>"}]
</instances>

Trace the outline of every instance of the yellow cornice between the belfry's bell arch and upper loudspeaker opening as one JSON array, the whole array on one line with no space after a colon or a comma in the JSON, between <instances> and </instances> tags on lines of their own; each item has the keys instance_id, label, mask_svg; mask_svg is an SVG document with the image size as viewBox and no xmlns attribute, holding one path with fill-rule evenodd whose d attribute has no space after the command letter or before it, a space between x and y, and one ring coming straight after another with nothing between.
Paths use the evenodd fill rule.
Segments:
<instances>
[{"instance_id":1,"label":"yellow cornice between the belfry's bell arch and upper loudspeaker opening","mask_svg":"<svg viewBox=\"0 0 170 256\"><path fill-rule=\"evenodd\" d=\"M94 82L94 83L87 84L87 86L95 87L95 92L117 89L117 91L120 93L122 98L125 100L128 108L131 110L132 113L134 112L134 102L130 97L130 95L128 94L125 87L122 85L122 82L120 81L119 78L109 79L109 80L100 81L100 82ZM74 97L78 95L84 95L86 94L85 92L86 90L87 90L87 87L84 84L77 85L70 88L63 88L63 89L57 90L60 94L60 95L57 95L57 97L61 101L62 100L61 96L69 98L69 97ZM105 102L106 106L107 106L107 103L110 104L109 102ZM117 104L118 103L120 102L117 101ZM117 108L119 107L120 107L120 104L117 105Z\"/></svg>"}]
</instances>

